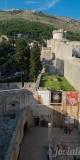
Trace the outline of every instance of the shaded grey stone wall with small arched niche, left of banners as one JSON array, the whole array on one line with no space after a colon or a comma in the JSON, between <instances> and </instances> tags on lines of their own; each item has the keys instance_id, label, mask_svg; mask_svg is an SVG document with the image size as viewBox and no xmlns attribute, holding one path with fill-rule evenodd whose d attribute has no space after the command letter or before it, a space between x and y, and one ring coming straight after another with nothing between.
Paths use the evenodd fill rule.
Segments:
<instances>
[{"instance_id":1,"label":"shaded grey stone wall with small arched niche, left of banners","mask_svg":"<svg viewBox=\"0 0 80 160\"><path fill-rule=\"evenodd\" d=\"M26 106L34 108L36 103L34 90L14 89L0 91L0 114L16 111Z\"/></svg>"}]
</instances>

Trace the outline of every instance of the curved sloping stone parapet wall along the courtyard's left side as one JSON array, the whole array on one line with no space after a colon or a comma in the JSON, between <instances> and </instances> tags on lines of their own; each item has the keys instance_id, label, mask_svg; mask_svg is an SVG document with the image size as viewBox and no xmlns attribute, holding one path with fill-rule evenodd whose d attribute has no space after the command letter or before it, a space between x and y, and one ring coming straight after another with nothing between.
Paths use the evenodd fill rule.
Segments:
<instances>
[{"instance_id":1,"label":"curved sloping stone parapet wall along the courtyard's left side","mask_svg":"<svg viewBox=\"0 0 80 160\"><path fill-rule=\"evenodd\" d=\"M32 119L32 113L31 109L27 107L21 114L18 123L16 125L15 131L13 133L8 151L6 153L6 156L4 160L17 160L21 143L24 137L24 125L27 122L27 129L30 126L33 126L33 119Z\"/></svg>"}]
</instances>

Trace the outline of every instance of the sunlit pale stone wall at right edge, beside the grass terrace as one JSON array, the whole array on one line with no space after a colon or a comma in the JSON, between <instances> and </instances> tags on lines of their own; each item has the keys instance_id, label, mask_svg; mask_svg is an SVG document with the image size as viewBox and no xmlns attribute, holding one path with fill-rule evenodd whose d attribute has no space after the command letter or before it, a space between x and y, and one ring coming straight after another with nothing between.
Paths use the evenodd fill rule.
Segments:
<instances>
[{"instance_id":1,"label":"sunlit pale stone wall at right edge, beside the grass terrace","mask_svg":"<svg viewBox=\"0 0 80 160\"><path fill-rule=\"evenodd\" d=\"M80 92L80 59L66 57L64 61L64 76Z\"/></svg>"}]
</instances>

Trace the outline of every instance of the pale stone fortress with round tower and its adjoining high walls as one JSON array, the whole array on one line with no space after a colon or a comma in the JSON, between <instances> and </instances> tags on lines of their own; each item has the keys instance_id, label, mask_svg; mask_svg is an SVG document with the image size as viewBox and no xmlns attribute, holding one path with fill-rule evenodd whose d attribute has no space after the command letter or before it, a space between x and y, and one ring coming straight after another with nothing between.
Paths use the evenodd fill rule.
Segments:
<instances>
[{"instance_id":1,"label":"pale stone fortress with round tower and its adjoining high walls","mask_svg":"<svg viewBox=\"0 0 80 160\"><path fill-rule=\"evenodd\" d=\"M80 42L66 39L67 31L54 30L42 48L41 60L48 74L63 75L80 92Z\"/></svg>"}]
</instances>

